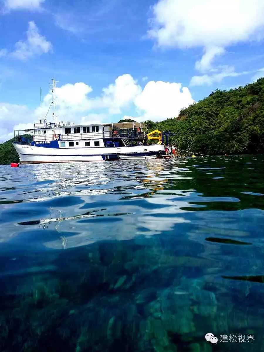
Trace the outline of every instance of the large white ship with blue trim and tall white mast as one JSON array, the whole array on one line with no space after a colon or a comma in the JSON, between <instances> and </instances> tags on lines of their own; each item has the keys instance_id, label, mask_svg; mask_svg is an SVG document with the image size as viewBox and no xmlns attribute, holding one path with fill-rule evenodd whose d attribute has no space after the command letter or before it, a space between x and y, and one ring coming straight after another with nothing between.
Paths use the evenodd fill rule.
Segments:
<instances>
[{"instance_id":1,"label":"large white ship with blue trim and tall white mast","mask_svg":"<svg viewBox=\"0 0 264 352\"><path fill-rule=\"evenodd\" d=\"M147 128L140 122L82 124L58 121L56 81L52 80L53 122L40 119L31 130L15 131L14 148L21 164L87 162L119 159L156 158L162 144L144 144ZM21 136L20 132L32 138Z\"/></svg>"}]
</instances>

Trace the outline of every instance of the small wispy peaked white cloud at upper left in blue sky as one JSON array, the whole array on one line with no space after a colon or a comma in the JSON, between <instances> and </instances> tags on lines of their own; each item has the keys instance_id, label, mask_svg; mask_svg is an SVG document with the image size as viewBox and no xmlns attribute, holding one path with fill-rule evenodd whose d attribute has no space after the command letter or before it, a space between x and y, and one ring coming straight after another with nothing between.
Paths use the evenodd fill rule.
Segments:
<instances>
[{"instance_id":1,"label":"small wispy peaked white cloud at upper left in blue sky","mask_svg":"<svg viewBox=\"0 0 264 352\"><path fill-rule=\"evenodd\" d=\"M32 56L46 54L52 50L51 43L39 34L38 27L34 21L29 22L26 36L26 40L19 40L19 42L15 43L15 51L11 52L10 56L26 60Z\"/></svg>"}]
</instances>

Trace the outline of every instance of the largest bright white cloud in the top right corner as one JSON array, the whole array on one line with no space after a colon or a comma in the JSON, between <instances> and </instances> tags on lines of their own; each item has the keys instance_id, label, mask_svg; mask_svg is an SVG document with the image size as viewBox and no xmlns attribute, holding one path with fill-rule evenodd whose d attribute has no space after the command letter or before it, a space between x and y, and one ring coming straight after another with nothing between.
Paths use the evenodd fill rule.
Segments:
<instances>
[{"instance_id":1,"label":"largest bright white cloud in the top right corner","mask_svg":"<svg viewBox=\"0 0 264 352\"><path fill-rule=\"evenodd\" d=\"M152 11L148 35L158 46L204 48L197 69L209 69L228 45L263 38L263 0L160 0Z\"/></svg>"}]
</instances>

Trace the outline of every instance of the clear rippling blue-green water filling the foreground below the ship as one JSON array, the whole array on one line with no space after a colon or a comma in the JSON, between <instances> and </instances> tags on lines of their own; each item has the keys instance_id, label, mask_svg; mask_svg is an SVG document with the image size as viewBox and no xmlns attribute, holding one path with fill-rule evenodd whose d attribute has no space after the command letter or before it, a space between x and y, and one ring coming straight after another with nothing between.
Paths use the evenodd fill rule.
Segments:
<instances>
[{"instance_id":1,"label":"clear rippling blue-green water filling the foreground below the ship","mask_svg":"<svg viewBox=\"0 0 264 352\"><path fill-rule=\"evenodd\" d=\"M0 166L0 351L264 351L263 160Z\"/></svg>"}]
</instances>

